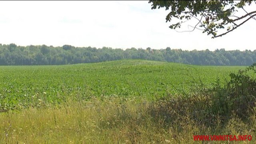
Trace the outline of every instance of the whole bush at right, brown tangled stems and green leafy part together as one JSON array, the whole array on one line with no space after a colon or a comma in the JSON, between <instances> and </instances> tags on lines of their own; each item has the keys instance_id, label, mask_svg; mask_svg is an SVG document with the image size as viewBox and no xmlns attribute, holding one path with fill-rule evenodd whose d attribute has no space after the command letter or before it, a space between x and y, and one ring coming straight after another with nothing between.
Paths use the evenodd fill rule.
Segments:
<instances>
[{"instance_id":1,"label":"whole bush at right, brown tangled stems and green leafy part together","mask_svg":"<svg viewBox=\"0 0 256 144\"><path fill-rule=\"evenodd\" d=\"M251 73L252 72L252 73ZM155 118L163 118L165 126L177 124L184 117L188 121L207 126L224 126L231 118L249 121L256 104L256 64L230 74L230 81L221 86L217 80L213 88L200 84L189 95L167 96L150 108Z\"/></svg>"}]
</instances>

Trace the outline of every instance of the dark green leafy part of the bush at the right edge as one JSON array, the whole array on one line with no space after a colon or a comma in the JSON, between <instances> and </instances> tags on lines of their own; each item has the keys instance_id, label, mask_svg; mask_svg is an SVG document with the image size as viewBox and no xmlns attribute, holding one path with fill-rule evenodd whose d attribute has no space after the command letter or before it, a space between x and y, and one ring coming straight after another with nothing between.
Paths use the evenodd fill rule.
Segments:
<instances>
[{"instance_id":1,"label":"dark green leafy part of the bush at the right edge","mask_svg":"<svg viewBox=\"0 0 256 144\"><path fill-rule=\"evenodd\" d=\"M252 70L256 73L256 64L240 70L238 74L231 73L231 80L224 88L214 88L212 112L221 116L236 114L245 120L253 112L256 96L256 80L248 75Z\"/></svg>"}]
</instances>

